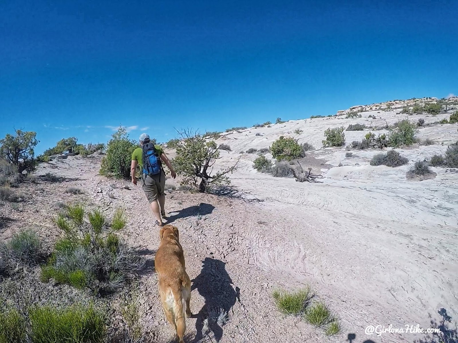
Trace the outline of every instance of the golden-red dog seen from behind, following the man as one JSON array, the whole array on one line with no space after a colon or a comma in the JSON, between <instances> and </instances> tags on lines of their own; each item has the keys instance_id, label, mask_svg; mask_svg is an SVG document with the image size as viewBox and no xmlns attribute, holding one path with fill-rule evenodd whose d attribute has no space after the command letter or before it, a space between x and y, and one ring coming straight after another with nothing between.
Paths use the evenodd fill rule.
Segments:
<instances>
[{"instance_id":1,"label":"golden-red dog seen from behind, following the man","mask_svg":"<svg viewBox=\"0 0 458 343\"><path fill-rule=\"evenodd\" d=\"M178 240L178 229L170 224L164 225L159 236L161 242L154 257L159 295L167 320L174 327L179 342L184 343L185 315L191 316L189 307L191 280L186 273L183 248Z\"/></svg>"}]
</instances>

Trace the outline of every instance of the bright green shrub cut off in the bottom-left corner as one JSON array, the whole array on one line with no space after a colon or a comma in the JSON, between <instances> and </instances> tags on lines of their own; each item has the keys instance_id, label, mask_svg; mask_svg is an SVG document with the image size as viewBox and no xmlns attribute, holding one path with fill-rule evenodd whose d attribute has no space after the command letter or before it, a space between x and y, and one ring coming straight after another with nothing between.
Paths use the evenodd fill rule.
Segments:
<instances>
[{"instance_id":1,"label":"bright green shrub cut off in the bottom-left corner","mask_svg":"<svg viewBox=\"0 0 458 343\"><path fill-rule=\"evenodd\" d=\"M25 343L27 325L15 308L0 310L0 343Z\"/></svg>"}]
</instances>

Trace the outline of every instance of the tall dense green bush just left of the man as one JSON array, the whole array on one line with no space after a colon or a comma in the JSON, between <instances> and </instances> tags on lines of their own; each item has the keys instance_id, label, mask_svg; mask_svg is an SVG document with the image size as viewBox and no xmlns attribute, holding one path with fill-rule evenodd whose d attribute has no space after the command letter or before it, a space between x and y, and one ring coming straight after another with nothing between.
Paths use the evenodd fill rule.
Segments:
<instances>
[{"instance_id":1,"label":"tall dense green bush just left of the man","mask_svg":"<svg viewBox=\"0 0 458 343\"><path fill-rule=\"evenodd\" d=\"M138 145L134 140L129 139L123 127L120 127L111 137L107 144L106 155L101 162L100 175L130 179L131 157Z\"/></svg>"}]
</instances>

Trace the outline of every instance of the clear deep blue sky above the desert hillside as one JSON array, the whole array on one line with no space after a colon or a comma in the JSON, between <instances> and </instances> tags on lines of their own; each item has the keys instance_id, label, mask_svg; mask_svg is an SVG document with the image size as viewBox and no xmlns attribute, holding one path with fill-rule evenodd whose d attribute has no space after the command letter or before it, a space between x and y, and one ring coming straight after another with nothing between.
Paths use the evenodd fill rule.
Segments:
<instances>
[{"instance_id":1,"label":"clear deep blue sky above the desert hillside","mask_svg":"<svg viewBox=\"0 0 458 343\"><path fill-rule=\"evenodd\" d=\"M441 0L3 1L0 136L166 141L458 94L457 17Z\"/></svg>"}]
</instances>

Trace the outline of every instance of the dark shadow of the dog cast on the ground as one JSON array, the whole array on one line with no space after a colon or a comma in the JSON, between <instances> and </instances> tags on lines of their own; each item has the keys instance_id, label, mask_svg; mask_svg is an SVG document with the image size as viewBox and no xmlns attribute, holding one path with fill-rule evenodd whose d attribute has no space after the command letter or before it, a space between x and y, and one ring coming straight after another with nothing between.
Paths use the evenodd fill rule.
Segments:
<instances>
[{"instance_id":1,"label":"dark shadow of the dog cast on the ground","mask_svg":"<svg viewBox=\"0 0 458 343\"><path fill-rule=\"evenodd\" d=\"M205 299L202 309L194 315L197 318L194 342L199 342L209 331L213 332L216 342L219 342L223 337L222 325L227 320L225 316L234 306L235 300L240 301L240 289L232 286L225 263L211 257L205 258L201 273L192 280L193 289L197 289ZM206 332L202 332L204 326Z\"/></svg>"}]
</instances>

